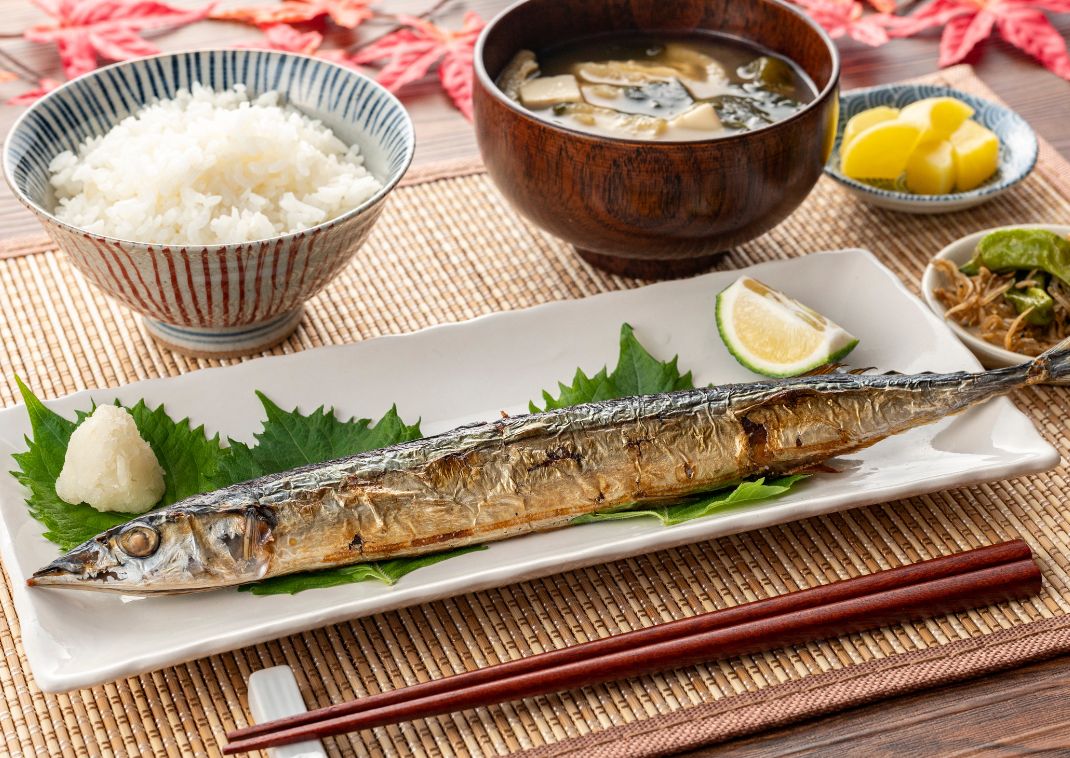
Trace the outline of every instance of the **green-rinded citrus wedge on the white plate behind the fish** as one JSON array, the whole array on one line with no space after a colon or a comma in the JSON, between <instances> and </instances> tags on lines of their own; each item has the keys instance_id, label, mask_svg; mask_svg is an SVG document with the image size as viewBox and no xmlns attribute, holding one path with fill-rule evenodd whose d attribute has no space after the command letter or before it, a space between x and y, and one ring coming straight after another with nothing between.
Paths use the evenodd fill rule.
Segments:
<instances>
[{"instance_id":1,"label":"green-rinded citrus wedge on the white plate behind the fish","mask_svg":"<svg viewBox=\"0 0 1070 758\"><path fill-rule=\"evenodd\" d=\"M817 312L750 276L717 295L717 329L739 363L767 377L805 374L858 344Z\"/></svg>"}]
</instances>

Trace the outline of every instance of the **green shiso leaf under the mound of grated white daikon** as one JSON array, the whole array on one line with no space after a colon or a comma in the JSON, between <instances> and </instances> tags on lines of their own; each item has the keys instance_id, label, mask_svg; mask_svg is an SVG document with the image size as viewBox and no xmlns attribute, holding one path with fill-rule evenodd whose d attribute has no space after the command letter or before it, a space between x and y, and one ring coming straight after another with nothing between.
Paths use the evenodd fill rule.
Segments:
<instances>
[{"instance_id":1,"label":"green shiso leaf under the mound of grated white daikon","mask_svg":"<svg viewBox=\"0 0 1070 758\"><path fill-rule=\"evenodd\" d=\"M128 521L127 513L102 513L85 503L72 505L60 500L56 480L63 469L71 435L89 413L78 413L77 421L64 419L37 399L18 377L15 381L30 416L33 438L27 438L25 453L14 456L18 470L12 471L12 475L30 490L27 505L30 515L45 526L45 539L70 550ZM214 487L221 453L218 436L209 439L204 427L192 428L188 419L172 421L163 406L150 409L142 400L127 410L164 469L166 489L159 505L170 505Z\"/></svg>"}]
</instances>

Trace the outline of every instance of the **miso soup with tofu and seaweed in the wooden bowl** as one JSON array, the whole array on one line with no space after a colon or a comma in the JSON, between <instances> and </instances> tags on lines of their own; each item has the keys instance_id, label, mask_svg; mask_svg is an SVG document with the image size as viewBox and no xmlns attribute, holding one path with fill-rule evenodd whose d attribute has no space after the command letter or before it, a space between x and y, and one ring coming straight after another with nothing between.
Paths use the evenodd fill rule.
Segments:
<instances>
[{"instance_id":1,"label":"miso soup with tofu and seaweed in the wooden bowl","mask_svg":"<svg viewBox=\"0 0 1070 758\"><path fill-rule=\"evenodd\" d=\"M521 50L498 86L537 117L625 139L694 140L776 123L814 97L788 59L713 33L599 34Z\"/></svg>"}]
</instances>

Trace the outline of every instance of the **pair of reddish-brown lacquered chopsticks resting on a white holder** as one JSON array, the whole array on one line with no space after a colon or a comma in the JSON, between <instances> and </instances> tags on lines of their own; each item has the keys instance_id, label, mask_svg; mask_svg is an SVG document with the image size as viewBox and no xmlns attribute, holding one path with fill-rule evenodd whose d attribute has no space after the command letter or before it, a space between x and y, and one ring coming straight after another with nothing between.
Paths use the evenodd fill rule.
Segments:
<instances>
[{"instance_id":1,"label":"pair of reddish-brown lacquered chopsticks resting on a white holder","mask_svg":"<svg viewBox=\"0 0 1070 758\"><path fill-rule=\"evenodd\" d=\"M242 753L991 605L1040 590L1021 540L702 613L227 733Z\"/></svg>"}]
</instances>

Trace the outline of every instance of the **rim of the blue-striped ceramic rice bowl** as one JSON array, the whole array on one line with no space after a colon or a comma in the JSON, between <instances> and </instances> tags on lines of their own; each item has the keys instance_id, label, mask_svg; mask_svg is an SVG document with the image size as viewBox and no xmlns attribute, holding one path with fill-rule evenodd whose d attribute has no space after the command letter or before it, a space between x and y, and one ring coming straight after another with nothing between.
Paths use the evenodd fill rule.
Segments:
<instances>
[{"instance_id":1,"label":"rim of the blue-striped ceramic rice bowl","mask_svg":"<svg viewBox=\"0 0 1070 758\"><path fill-rule=\"evenodd\" d=\"M64 221L61 221L56 215L55 209L54 210L48 210L48 209L44 208L42 204L37 203L33 198L31 198L29 196L29 194L19 185L19 182L14 177L13 167L12 167L12 164L11 164L11 161L10 161L10 155L11 155L11 150L12 150L12 140L15 138L15 135L17 133L19 133L20 130L24 128L24 123L26 122L26 120L30 117L30 115L34 111L34 109L37 108L41 104L46 103L46 102L48 102L48 101L50 101L50 100L52 100L55 97L60 96L61 93L65 93L66 90L73 89L73 87L76 86L76 85L78 85L79 82L82 82L82 81L88 80L90 78L100 78L103 73L106 73L106 72L114 70L114 69L143 66L143 65L148 64L149 62L155 61L155 60L169 60L169 59L172 59L172 58L183 58L183 57L188 57L188 56L193 56L193 55L211 54L211 52L236 52L236 54L257 52L257 54L261 54L261 55L268 55L271 58L276 58L276 59L279 59L279 60L284 60L284 59L287 59L287 58L305 59L305 60L310 61L311 63L315 63L316 65L326 65L326 66L335 67L335 69L338 69L338 70L342 71L348 76L354 76L357 79L364 79L366 82L368 82L371 86L371 88L373 90L379 90L378 94L380 96L384 97L388 103L391 103L392 107L397 108L397 110L403 116L403 120L402 120L401 123L402 123L402 130L404 132L404 135L403 135L404 136L404 148L403 148L404 149L404 154L403 154L401 163L398 166L398 169L396 171L389 171L387 173L387 176L383 177L382 179L379 178L379 177L374 177L374 179L377 181L379 181L382 186L379 190L377 190L373 195L371 195L368 199L366 199L363 202L361 202L358 206L356 206L354 208L351 208L351 209L349 209L349 210L347 210L347 211L338 214L337 216L334 216L333 218L327 218L326 221L323 221L323 222L321 222L319 224L316 224L315 226L310 226L307 229L300 229L297 231L288 231L288 232L285 232L285 233L281 233L281 234L273 234L272 237L259 237L259 238L256 238L256 239L253 239L253 240L241 240L241 241L233 241L233 242L213 242L213 243L187 243L187 242L183 242L183 243L168 243L168 242L155 242L155 241L147 241L147 240L127 240L127 239L122 238L122 237L114 237L114 236L111 236L111 234L104 234L104 233L96 232L96 231L90 231L89 229L86 229L86 228L82 228L82 227L79 227L79 226L75 226L73 224L68 224L68 223L66 223ZM235 84L245 84L245 82L235 82ZM156 101L156 102L158 102L158 101ZM142 104L138 105L137 107L138 108L142 108L142 107L146 107L146 106L151 105L151 104L152 104L152 102L147 101L146 103L142 103ZM309 117L309 118L319 120L319 117L318 117L318 115L315 111L314 112L305 112L305 111L302 110L301 112L303 115ZM133 113L131 113L131 115L133 115ZM126 117L124 117L124 118L126 118ZM109 131L111 128L113 128L116 125L118 125L118 123L119 123L120 120L116 120L114 123L112 123L111 126L109 126ZM104 136L104 135L103 134L98 134L96 136L101 137L101 136ZM232 249L234 247L249 247L250 249L257 249L257 248L262 248L265 245L278 243L278 242L281 242L281 241L289 241L289 240L301 239L301 238L308 237L308 236L314 234L314 233L320 233L320 232L322 232L322 231L324 231L326 229L330 229L332 227L336 227L339 224L343 224L343 223L346 223L346 222L348 222L348 221L350 221L352 218L356 218L356 217L361 216L362 214L364 214L368 210L374 208L379 202L381 202L398 185L398 183L404 177L406 172L409 170L409 166L412 164L413 154L415 152L415 142L416 142L416 139L415 139L415 130L413 127L412 117L409 116L409 111L401 104L401 101L399 101L394 95L394 93L389 92L386 88L384 88L382 85L380 85L378 81L376 81L371 77L368 77L368 76L366 76L366 75L364 75L364 74L362 74L362 73L360 73L360 72L357 72L357 71L355 71L355 70L353 70L353 69L351 69L349 66L345 66L345 65L341 65L339 63L335 63L334 61L328 61L328 60L325 60L325 59L322 59L322 58L317 58L315 56L307 56L307 55L304 55L304 54L301 54L301 52L287 52L287 51L282 51L282 50L261 50L261 49L249 49L249 50L238 49L238 50L234 50L234 49L231 49L231 48L203 47L203 48L197 48L197 49L192 49L192 50L180 50L180 51L172 51L172 52L162 52L162 54L158 54L158 55L155 55L155 56L146 56L143 58L135 58L135 59L132 59L132 60L128 60L128 61L119 61L119 62L116 62L116 63L111 63L109 65L101 66L100 69L94 69L93 71L88 72L87 74L83 74L83 75L81 75L79 77L76 77L74 79L71 79L70 81L64 81L62 85L60 85L59 87L57 87L55 90L51 90L50 92L46 93L43 97L41 97L37 101L35 101L34 103L32 103L22 113L19 115L19 117L15 120L15 123L12 124L12 127L7 131L7 135L4 138L4 140L3 140L3 146L2 146L2 148L0 148L0 157L2 157L2 162L3 162L3 178L4 178L4 181L7 183L7 186L11 188L12 194L15 195L15 197L18 199L19 202L21 202L24 206L26 206L36 216L39 216L43 221L47 222L47 224L55 224L56 226L58 226L58 227L60 227L62 229L65 229L68 232L78 234L78 236L91 237L91 238L94 238L94 239L97 239L97 240L102 240L102 241L105 241L105 242L108 242L108 243L119 244L119 245L122 245L122 246L125 246L125 247L128 247L128 248L129 247L140 247L140 248L164 248L164 247L168 247L168 248L184 248L186 251L203 251L204 253L221 253L221 252L225 252L227 249Z\"/></svg>"}]
</instances>

